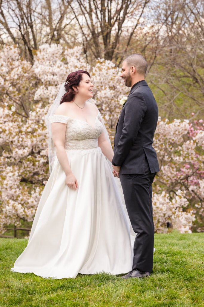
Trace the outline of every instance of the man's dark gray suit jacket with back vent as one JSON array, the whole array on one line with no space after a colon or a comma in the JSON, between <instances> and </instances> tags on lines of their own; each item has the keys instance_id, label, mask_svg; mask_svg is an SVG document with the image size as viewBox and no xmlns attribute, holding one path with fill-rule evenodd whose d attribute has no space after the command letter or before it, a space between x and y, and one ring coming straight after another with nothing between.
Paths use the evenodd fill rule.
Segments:
<instances>
[{"instance_id":1,"label":"man's dark gray suit jacket with back vent","mask_svg":"<svg viewBox=\"0 0 204 307\"><path fill-rule=\"evenodd\" d=\"M132 86L116 126L112 164L121 166L121 174L144 174L145 155L151 173L159 171L152 146L157 121L152 91L146 81L139 81Z\"/></svg>"}]
</instances>

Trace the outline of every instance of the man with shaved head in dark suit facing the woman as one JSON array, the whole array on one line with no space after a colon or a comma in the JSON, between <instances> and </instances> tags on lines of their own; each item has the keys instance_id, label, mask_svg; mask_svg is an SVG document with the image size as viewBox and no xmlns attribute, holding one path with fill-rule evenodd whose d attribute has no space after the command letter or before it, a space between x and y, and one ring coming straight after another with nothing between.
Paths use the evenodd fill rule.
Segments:
<instances>
[{"instance_id":1,"label":"man with shaved head in dark suit facing the woman","mask_svg":"<svg viewBox=\"0 0 204 307\"><path fill-rule=\"evenodd\" d=\"M152 183L159 165L152 143L158 107L144 80L146 70L145 58L132 54L124 60L121 73L125 86L131 87L131 90L117 122L112 164L114 176L120 177L128 215L137 233L132 271L122 278L147 277L153 267L151 199Z\"/></svg>"}]
</instances>

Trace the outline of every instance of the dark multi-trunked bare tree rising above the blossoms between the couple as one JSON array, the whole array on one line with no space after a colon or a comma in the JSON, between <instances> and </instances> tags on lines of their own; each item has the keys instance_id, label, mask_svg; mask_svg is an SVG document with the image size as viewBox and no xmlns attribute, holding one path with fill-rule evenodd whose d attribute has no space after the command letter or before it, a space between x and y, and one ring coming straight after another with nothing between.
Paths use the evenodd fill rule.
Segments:
<instances>
[{"instance_id":1,"label":"dark multi-trunked bare tree rising above the blossoms between the couple","mask_svg":"<svg viewBox=\"0 0 204 307\"><path fill-rule=\"evenodd\" d=\"M118 59L121 34L127 27L128 47L135 29L150 0L67 0L82 34L84 52L90 51L96 59ZM127 34L127 32L126 32ZM125 33L124 33L125 35Z\"/></svg>"}]
</instances>

